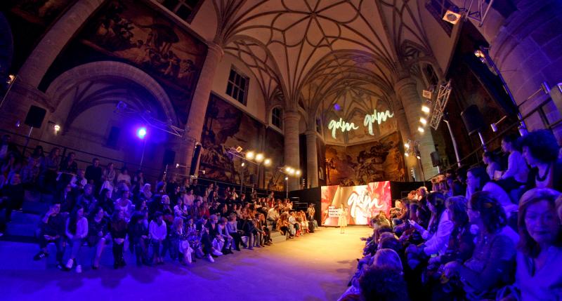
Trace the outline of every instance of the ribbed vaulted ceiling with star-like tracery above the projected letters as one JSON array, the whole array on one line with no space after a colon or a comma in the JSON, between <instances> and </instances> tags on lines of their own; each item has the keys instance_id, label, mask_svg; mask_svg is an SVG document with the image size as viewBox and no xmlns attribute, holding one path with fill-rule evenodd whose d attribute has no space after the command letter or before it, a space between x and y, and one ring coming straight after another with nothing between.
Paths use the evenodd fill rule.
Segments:
<instances>
[{"instance_id":1,"label":"ribbed vaulted ceiling with star-like tracery above the projected letters","mask_svg":"<svg viewBox=\"0 0 562 301\"><path fill-rule=\"evenodd\" d=\"M392 107L401 72L427 83L435 80L427 79L430 65L429 77L441 77L421 16L425 2L212 0L214 41L254 72L266 101L281 95L287 109L301 103L307 120L336 102L349 115L379 101ZM369 97L343 101L349 91Z\"/></svg>"}]
</instances>

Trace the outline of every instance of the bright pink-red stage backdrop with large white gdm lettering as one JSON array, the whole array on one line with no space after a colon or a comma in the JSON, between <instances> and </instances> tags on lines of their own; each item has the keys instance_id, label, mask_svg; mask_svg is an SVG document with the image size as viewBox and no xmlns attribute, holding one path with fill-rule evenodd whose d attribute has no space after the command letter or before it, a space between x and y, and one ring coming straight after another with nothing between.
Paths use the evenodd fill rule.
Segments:
<instances>
[{"instance_id":1,"label":"bright pink-red stage backdrop with large white gdm lettering","mask_svg":"<svg viewBox=\"0 0 562 301\"><path fill-rule=\"evenodd\" d=\"M389 181L351 187L322 186L322 225L325 226L337 226L340 212L347 212L348 225L368 225L381 211L388 216L391 206Z\"/></svg>"}]
</instances>

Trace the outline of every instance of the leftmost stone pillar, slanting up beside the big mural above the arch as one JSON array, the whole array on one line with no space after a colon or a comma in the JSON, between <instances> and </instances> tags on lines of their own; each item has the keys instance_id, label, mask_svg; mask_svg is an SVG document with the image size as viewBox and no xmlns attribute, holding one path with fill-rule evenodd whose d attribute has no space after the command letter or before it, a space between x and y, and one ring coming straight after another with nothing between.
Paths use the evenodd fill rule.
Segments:
<instances>
[{"instance_id":1,"label":"leftmost stone pillar, slanting up beside the big mural above the arch","mask_svg":"<svg viewBox=\"0 0 562 301\"><path fill-rule=\"evenodd\" d=\"M79 0L72 6L39 41L37 47L22 65L18 77L30 86L38 87L41 79L60 51L78 32L86 20L105 0Z\"/></svg>"}]
</instances>

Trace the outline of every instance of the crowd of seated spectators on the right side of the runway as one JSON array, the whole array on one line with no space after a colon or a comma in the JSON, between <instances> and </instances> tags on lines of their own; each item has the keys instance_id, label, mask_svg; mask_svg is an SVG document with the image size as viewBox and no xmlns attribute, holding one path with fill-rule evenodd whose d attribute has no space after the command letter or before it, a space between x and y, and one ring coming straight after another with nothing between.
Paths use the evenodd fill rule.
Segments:
<instances>
[{"instance_id":1,"label":"crowd of seated spectators on the right side of the runway","mask_svg":"<svg viewBox=\"0 0 562 301\"><path fill-rule=\"evenodd\" d=\"M340 300L562 300L562 158L546 130L447 170L371 220Z\"/></svg>"}]
</instances>

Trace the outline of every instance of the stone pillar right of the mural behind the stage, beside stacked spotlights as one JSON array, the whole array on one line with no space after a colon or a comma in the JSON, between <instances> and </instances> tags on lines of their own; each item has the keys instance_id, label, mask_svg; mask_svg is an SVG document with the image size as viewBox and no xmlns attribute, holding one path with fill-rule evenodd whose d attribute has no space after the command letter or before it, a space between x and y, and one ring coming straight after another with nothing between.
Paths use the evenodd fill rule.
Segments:
<instances>
[{"instance_id":1,"label":"stone pillar right of the mural behind the stage, beside stacked spotlights","mask_svg":"<svg viewBox=\"0 0 562 301\"><path fill-rule=\"evenodd\" d=\"M433 137L431 136L431 129L426 127L424 133L417 131L419 117L421 116L421 98L417 91L417 84L411 77L400 79L394 86L396 94L402 101L404 106L405 116L407 119L408 128L410 128L410 135L413 140L419 141L419 152L421 154L421 166L424 168L425 180L428 180L433 175L437 174L437 168L433 167L431 163L431 152L435 152L435 145L433 144ZM410 138L410 139L412 139ZM421 179L422 175L417 175Z\"/></svg>"}]
</instances>

